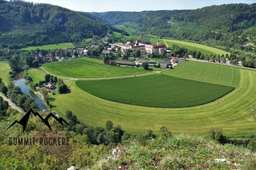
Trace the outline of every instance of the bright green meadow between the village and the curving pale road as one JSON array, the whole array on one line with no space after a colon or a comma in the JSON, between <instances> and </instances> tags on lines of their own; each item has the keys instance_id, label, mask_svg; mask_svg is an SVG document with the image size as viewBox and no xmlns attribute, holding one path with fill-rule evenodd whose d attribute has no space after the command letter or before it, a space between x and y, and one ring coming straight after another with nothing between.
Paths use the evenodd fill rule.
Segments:
<instances>
[{"instance_id":1,"label":"bright green meadow between the village and the curving pale road","mask_svg":"<svg viewBox=\"0 0 256 170\"><path fill-rule=\"evenodd\" d=\"M115 77L149 72L141 68L106 65L103 60L85 57L46 63L43 68L58 76L74 78Z\"/></svg>"}]
</instances>

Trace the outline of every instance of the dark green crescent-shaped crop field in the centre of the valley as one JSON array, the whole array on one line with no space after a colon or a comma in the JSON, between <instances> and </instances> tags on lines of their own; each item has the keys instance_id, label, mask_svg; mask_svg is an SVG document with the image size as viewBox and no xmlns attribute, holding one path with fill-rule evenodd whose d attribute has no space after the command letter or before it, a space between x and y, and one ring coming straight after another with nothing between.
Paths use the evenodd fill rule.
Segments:
<instances>
[{"instance_id":1,"label":"dark green crescent-shaped crop field in the centre of the valley","mask_svg":"<svg viewBox=\"0 0 256 170\"><path fill-rule=\"evenodd\" d=\"M167 76L77 81L82 90L102 99L148 107L181 108L214 101L234 88ZM150 88L145 87L150 85ZM193 87L193 90L191 89ZM154 89L154 90L152 90Z\"/></svg>"}]
</instances>

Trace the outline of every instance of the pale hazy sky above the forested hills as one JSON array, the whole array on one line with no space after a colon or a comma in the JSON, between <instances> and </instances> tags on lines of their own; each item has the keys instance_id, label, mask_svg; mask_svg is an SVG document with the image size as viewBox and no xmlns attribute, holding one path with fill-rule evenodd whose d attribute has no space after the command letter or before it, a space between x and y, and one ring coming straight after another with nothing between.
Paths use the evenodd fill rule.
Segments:
<instances>
[{"instance_id":1,"label":"pale hazy sky above the forested hills","mask_svg":"<svg viewBox=\"0 0 256 170\"><path fill-rule=\"evenodd\" d=\"M211 5L256 3L256 0L25 0L62 6L74 11L148 11L197 9Z\"/></svg>"}]
</instances>

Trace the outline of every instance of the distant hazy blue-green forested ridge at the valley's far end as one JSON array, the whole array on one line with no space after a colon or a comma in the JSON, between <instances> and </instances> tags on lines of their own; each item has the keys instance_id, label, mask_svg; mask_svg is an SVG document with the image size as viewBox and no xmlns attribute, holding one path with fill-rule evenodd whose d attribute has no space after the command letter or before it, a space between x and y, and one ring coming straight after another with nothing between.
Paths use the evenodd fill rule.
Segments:
<instances>
[{"instance_id":1,"label":"distant hazy blue-green forested ridge at the valley's far end","mask_svg":"<svg viewBox=\"0 0 256 170\"><path fill-rule=\"evenodd\" d=\"M161 10L161 11L142 11L142 12L92 12L90 14L108 22L111 25L132 22L137 24L136 29L145 31L151 27L161 27L163 23L171 19L175 14L181 14L190 10Z\"/></svg>"}]
</instances>

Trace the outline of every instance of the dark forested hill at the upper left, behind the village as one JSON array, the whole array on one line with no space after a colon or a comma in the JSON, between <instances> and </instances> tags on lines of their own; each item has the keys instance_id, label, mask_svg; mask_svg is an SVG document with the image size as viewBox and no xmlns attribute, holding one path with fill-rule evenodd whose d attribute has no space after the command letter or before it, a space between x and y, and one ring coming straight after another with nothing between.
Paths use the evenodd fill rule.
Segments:
<instances>
[{"instance_id":1,"label":"dark forested hill at the upper left, behind the village","mask_svg":"<svg viewBox=\"0 0 256 170\"><path fill-rule=\"evenodd\" d=\"M112 27L96 17L50 4L0 0L0 45L77 42Z\"/></svg>"}]
</instances>

